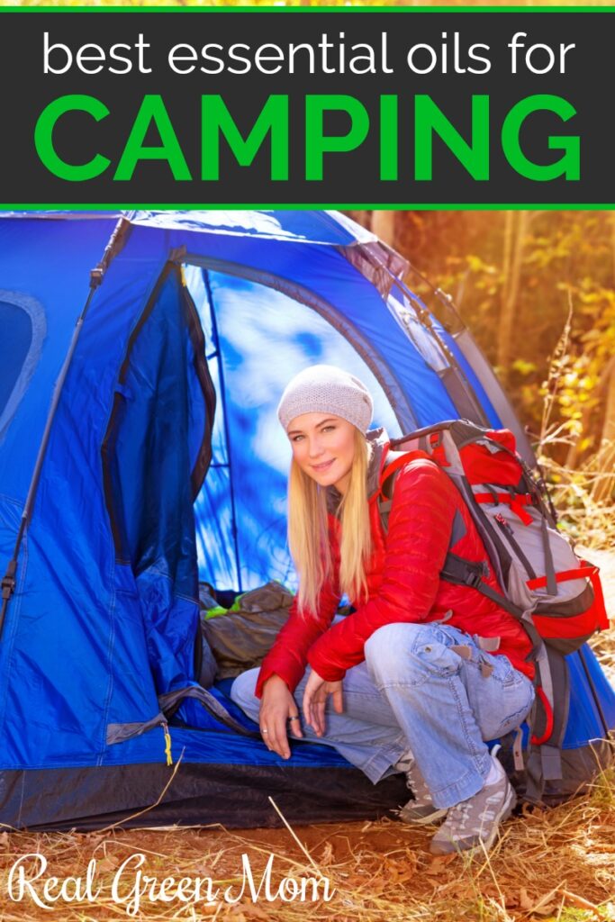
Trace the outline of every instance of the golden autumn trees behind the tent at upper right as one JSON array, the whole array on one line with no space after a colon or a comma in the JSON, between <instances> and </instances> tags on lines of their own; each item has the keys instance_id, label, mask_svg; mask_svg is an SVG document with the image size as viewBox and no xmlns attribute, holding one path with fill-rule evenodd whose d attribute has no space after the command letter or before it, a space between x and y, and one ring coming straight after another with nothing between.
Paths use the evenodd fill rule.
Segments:
<instances>
[{"instance_id":1,"label":"golden autumn trees behind the tent at upper right","mask_svg":"<svg viewBox=\"0 0 615 922\"><path fill-rule=\"evenodd\" d=\"M615 499L615 215L351 212L453 296L550 460ZM430 290L408 284L434 308Z\"/></svg>"}]
</instances>

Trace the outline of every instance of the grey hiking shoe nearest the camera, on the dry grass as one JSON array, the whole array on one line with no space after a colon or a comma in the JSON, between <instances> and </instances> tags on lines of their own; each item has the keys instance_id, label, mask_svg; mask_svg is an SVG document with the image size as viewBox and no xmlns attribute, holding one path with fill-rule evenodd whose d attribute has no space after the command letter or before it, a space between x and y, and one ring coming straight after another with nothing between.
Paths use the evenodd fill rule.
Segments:
<instances>
[{"instance_id":1,"label":"grey hiking shoe nearest the camera, on the dry grass","mask_svg":"<svg viewBox=\"0 0 615 922\"><path fill-rule=\"evenodd\" d=\"M493 757L491 757L493 758ZM495 758L499 775L492 785L485 785L478 794L450 807L445 822L432 838L432 855L452 855L455 852L491 848L500 823L508 819L516 804L514 790Z\"/></svg>"}]
</instances>

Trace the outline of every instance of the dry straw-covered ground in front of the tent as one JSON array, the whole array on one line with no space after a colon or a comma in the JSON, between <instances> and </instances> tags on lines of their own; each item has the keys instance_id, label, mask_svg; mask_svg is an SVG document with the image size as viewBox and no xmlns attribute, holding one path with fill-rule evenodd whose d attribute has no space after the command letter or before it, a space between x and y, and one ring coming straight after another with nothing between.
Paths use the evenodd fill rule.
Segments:
<instances>
[{"instance_id":1,"label":"dry straw-covered ground in front of the tent","mask_svg":"<svg viewBox=\"0 0 615 922\"><path fill-rule=\"evenodd\" d=\"M300 845L293 837L297 836ZM615 919L615 790L600 779L592 793L547 812L527 811L506 824L490 855L470 859L433 858L429 830L394 821L307 826L244 833L222 829L138 830L112 833L2 836L2 870L18 857L40 852L47 873L65 879L84 875L97 859L101 895L95 904L64 901L54 909L29 899L11 903L3 896L3 922L56 916L65 922L126 918L124 904L112 900L113 875L136 852L147 859L146 873L159 881L172 875L209 876L223 889L241 886L242 855L250 858L256 886L273 854L274 890L286 875L325 875L330 902L255 903L246 891L238 904L216 906L152 902L144 896L136 918L267 919L271 922L357 920L357 922L459 922L462 919L521 922L552 918L561 922ZM309 857L308 857L309 856ZM317 870L316 870L317 869ZM4 889L4 888L3 888ZM124 892L129 889L125 879Z\"/></svg>"}]
</instances>

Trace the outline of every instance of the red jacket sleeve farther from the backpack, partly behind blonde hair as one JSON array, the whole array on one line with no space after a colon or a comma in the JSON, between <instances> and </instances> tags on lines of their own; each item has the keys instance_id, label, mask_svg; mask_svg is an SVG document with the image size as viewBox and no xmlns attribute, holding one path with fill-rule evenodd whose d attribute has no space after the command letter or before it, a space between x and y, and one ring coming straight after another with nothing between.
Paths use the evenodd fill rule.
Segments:
<instances>
[{"instance_id":1,"label":"red jacket sleeve farther from the backpack, partly behind blonde hair","mask_svg":"<svg viewBox=\"0 0 615 922\"><path fill-rule=\"evenodd\" d=\"M275 643L261 665L254 694L262 697L263 685L273 675L278 675L291 692L303 678L307 666L307 652L313 642L329 627L337 611L338 550L333 549L333 577L325 583L318 597L316 611L301 614L297 599L290 606L289 620L278 633Z\"/></svg>"}]
</instances>

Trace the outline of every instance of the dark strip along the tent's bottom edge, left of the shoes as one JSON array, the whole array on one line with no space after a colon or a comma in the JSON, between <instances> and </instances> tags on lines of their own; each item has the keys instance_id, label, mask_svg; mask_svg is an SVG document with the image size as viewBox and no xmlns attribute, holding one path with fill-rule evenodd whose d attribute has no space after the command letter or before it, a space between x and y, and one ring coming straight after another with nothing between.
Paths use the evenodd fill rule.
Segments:
<instances>
[{"instance_id":1,"label":"dark strip along the tent's bottom edge, left of the shoes","mask_svg":"<svg viewBox=\"0 0 615 922\"><path fill-rule=\"evenodd\" d=\"M281 824L269 798L288 822L314 823L394 816L409 796L403 775L374 786L354 768L192 762L182 763L169 784L171 773L160 763L2 772L0 820L40 831L111 823L250 829Z\"/></svg>"}]
</instances>

